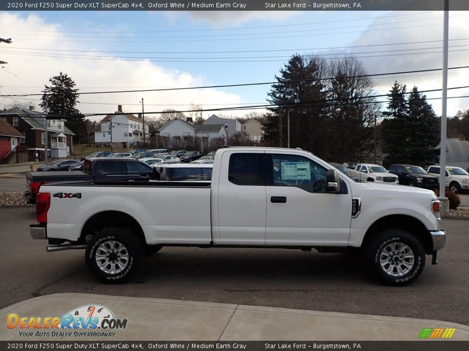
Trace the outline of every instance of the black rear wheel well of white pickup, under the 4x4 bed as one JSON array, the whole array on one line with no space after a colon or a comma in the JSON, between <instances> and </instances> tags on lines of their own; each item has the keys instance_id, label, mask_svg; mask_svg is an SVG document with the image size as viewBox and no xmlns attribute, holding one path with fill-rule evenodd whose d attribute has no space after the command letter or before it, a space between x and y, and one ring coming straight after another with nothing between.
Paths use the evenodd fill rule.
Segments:
<instances>
[{"instance_id":1,"label":"black rear wheel well of white pickup, under the 4x4 bed","mask_svg":"<svg viewBox=\"0 0 469 351\"><path fill-rule=\"evenodd\" d=\"M88 218L80 234L80 242L86 243L87 235L94 235L104 228L128 228L143 244L146 244L145 234L137 220L120 211L100 212Z\"/></svg>"}]
</instances>

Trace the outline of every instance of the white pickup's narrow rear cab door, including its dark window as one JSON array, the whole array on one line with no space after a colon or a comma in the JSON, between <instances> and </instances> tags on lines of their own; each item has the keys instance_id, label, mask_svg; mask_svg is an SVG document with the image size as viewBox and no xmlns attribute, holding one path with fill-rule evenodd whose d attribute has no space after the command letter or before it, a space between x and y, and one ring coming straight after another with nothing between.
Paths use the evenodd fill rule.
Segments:
<instances>
[{"instance_id":1,"label":"white pickup's narrow rear cab door, including its dark window","mask_svg":"<svg viewBox=\"0 0 469 351\"><path fill-rule=\"evenodd\" d=\"M213 174L212 239L222 245L264 245L264 153L225 152Z\"/></svg>"}]
</instances>

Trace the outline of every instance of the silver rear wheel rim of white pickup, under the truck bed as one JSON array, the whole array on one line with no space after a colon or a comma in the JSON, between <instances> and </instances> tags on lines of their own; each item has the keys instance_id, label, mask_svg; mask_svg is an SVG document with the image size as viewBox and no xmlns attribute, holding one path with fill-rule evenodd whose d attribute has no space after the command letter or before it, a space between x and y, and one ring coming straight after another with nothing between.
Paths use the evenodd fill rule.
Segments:
<instances>
[{"instance_id":1,"label":"silver rear wheel rim of white pickup, under the truck bed","mask_svg":"<svg viewBox=\"0 0 469 351\"><path fill-rule=\"evenodd\" d=\"M118 241L106 241L96 250L96 264L107 274L117 274L124 271L128 265L127 248Z\"/></svg>"}]
</instances>

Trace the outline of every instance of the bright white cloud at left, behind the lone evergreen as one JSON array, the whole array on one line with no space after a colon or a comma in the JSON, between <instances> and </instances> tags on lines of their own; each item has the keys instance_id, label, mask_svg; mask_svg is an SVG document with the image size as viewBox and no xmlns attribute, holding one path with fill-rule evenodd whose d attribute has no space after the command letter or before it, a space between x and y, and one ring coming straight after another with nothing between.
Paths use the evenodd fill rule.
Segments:
<instances>
[{"instance_id":1,"label":"bright white cloud at left, behind the lone evergreen","mask_svg":"<svg viewBox=\"0 0 469 351\"><path fill-rule=\"evenodd\" d=\"M2 95L41 94L44 84L49 78L66 73L76 83L79 93L89 91L115 91L161 89L171 87L189 87L210 85L204 76L193 75L190 72L167 69L148 60L126 61L104 54L80 53L86 55L100 55L102 60L74 59L58 57L56 52L43 56L44 51L37 49L61 50L106 50L97 43L72 42L64 40L57 24L45 23L40 15L29 17L20 14L2 13L0 23L9 28L12 37L11 44L1 43L3 52L1 58L8 64L1 70L0 93ZM36 32L36 33L35 33ZM37 34L41 33L38 37ZM35 36L36 34L36 36ZM5 45L5 46L3 46ZM15 53L13 51L16 51ZM40 56L25 55L34 53ZM41 54L38 54L41 53ZM64 53L64 52L63 52ZM84 114L112 113L117 105L122 104L126 112L138 113L142 107L139 103L144 98L145 113L162 111L164 109L188 110L190 104L207 104L210 107L220 101L226 104L240 102L236 94L225 93L217 89L195 89L183 91L135 92L115 94L82 94L77 108ZM24 103L27 107L31 101L39 106L40 96L0 98L0 107L8 107L16 102ZM187 104L187 105L180 105ZM38 109L37 109L38 110ZM243 113L244 114L244 113ZM204 117L206 114L204 113ZM147 115L149 116L149 115ZM157 115L154 115L157 116ZM94 119L101 119L95 117Z\"/></svg>"}]
</instances>

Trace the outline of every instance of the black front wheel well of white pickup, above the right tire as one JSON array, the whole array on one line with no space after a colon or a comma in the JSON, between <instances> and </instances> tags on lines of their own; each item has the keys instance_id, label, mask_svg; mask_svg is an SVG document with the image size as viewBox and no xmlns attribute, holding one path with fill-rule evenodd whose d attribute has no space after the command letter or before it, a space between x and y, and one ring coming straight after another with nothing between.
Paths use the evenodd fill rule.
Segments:
<instances>
[{"instance_id":1,"label":"black front wheel well of white pickup, above the right tire","mask_svg":"<svg viewBox=\"0 0 469 351\"><path fill-rule=\"evenodd\" d=\"M366 246L366 244L373 238L374 234L390 228L402 229L415 235L424 246L425 253L431 253L432 241L430 233L421 221L409 215L388 215L378 219L366 231L362 247Z\"/></svg>"}]
</instances>

